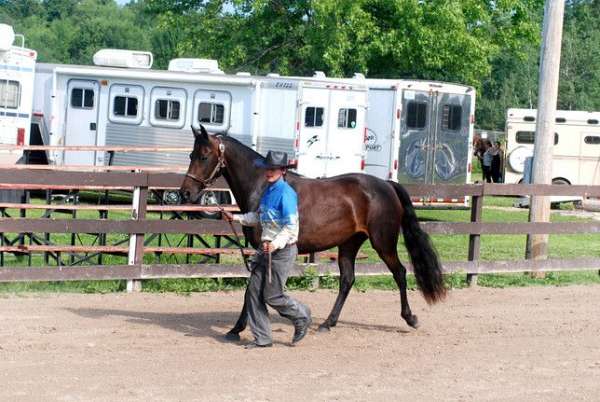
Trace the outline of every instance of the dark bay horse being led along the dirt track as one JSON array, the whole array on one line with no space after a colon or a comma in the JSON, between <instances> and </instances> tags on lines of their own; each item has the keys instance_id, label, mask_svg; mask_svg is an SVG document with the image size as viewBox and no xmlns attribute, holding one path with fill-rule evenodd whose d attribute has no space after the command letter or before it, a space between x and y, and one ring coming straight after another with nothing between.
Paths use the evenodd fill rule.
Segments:
<instances>
[{"instance_id":1,"label":"dark bay horse being led along the dirt track","mask_svg":"<svg viewBox=\"0 0 600 402\"><path fill-rule=\"evenodd\" d=\"M195 202L204 188L223 175L241 211L256 211L267 186L264 170L257 168L256 162L264 158L231 137L209 135L202 126L192 131L194 150L181 186L184 200ZM446 289L437 253L419 226L410 197L402 186L366 174L308 179L288 172L286 180L298 193L298 252L317 252L336 246L339 251L339 294L320 331L336 325L354 283L354 260L366 239L393 274L400 289L401 315L408 325L416 328L418 321L408 304L406 269L396 249L400 230L425 300L434 303L444 298ZM258 230L244 228L244 234L258 247ZM245 310L244 307L230 335L237 335L246 327Z\"/></svg>"}]
</instances>

